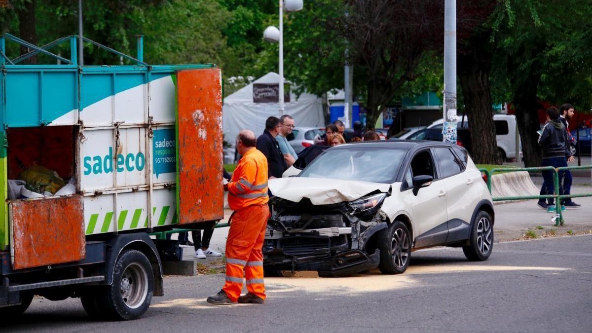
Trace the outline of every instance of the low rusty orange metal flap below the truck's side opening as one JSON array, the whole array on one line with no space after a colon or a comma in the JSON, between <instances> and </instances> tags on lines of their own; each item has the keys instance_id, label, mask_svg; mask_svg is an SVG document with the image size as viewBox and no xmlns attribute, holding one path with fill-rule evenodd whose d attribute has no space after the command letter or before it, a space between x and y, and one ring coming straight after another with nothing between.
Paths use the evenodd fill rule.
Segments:
<instances>
[{"instance_id":1,"label":"low rusty orange metal flap below the truck's side opening","mask_svg":"<svg viewBox=\"0 0 592 333\"><path fill-rule=\"evenodd\" d=\"M15 270L85 258L82 196L11 201Z\"/></svg>"}]
</instances>

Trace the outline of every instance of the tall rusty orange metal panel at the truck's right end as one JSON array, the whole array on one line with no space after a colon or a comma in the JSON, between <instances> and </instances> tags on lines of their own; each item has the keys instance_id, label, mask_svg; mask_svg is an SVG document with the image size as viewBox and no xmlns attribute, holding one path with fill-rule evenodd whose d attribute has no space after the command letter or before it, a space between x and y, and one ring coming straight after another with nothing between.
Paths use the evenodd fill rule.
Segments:
<instances>
[{"instance_id":1,"label":"tall rusty orange metal panel at the truck's right end","mask_svg":"<svg viewBox=\"0 0 592 333\"><path fill-rule=\"evenodd\" d=\"M177 72L179 224L224 217L220 69Z\"/></svg>"}]
</instances>

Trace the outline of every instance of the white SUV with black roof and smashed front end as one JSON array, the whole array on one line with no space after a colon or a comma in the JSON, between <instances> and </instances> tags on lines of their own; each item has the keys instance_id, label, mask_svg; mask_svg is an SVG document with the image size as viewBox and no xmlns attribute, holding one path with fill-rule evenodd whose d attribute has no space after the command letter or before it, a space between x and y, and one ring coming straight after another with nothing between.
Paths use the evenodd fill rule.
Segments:
<instances>
[{"instance_id":1,"label":"white SUV with black roof and smashed front end","mask_svg":"<svg viewBox=\"0 0 592 333\"><path fill-rule=\"evenodd\" d=\"M361 142L327 149L297 177L269 181L266 271L344 276L403 273L411 251L462 247L487 260L494 210L466 150L433 141Z\"/></svg>"}]
</instances>

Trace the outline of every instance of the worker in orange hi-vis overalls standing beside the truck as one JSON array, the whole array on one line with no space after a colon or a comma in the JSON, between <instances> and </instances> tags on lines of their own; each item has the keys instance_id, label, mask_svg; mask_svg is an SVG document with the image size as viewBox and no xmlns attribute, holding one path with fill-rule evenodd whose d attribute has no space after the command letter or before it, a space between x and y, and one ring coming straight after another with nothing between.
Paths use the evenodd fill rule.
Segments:
<instances>
[{"instance_id":1,"label":"worker in orange hi-vis overalls standing beside the truck","mask_svg":"<svg viewBox=\"0 0 592 333\"><path fill-rule=\"evenodd\" d=\"M231 181L224 185L228 204L234 210L226 239L226 283L219 293L208 297L215 305L264 303L263 239L269 218L267 194L267 159L255 148L255 133L242 130L236 149L243 157ZM243 290L243 270L248 293ZM239 297L240 296L240 297Z\"/></svg>"}]
</instances>

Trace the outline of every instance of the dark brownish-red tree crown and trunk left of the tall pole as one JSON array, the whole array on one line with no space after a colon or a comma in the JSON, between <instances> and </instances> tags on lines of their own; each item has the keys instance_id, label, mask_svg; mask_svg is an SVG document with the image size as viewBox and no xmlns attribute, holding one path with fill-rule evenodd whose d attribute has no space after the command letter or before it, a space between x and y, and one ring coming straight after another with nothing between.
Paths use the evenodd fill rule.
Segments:
<instances>
[{"instance_id":1,"label":"dark brownish-red tree crown and trunk left of the tall pole","mask_svg":"<svg viewBox=\"0 0 592 333\"><path fill-rule=\"evenodd\" d=\"M381 107L420 75L424 52L442 39L443 7L430 0L351 0L348 11L344 34L356 76L365 81L366 124L374 126Z\"/></svg>"}]
</instances>

